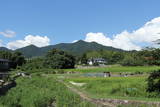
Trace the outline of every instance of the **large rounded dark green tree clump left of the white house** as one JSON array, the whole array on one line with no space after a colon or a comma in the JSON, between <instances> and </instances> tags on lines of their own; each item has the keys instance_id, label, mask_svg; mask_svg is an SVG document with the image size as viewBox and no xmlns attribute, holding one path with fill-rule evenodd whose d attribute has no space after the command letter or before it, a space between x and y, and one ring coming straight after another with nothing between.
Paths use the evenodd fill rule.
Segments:
<instances>
[{"instance_id":1,"label":"large rounded dark green tree clump left of the white house","mask_svg":"<svg viewBox=\"0 0 160 107\"><path fill-rule=\"evenodd\" d=\"M75 58L67 52L53 49L46 55L44 65L53 69L74 68Z\"/></svg>"}]
</instances>

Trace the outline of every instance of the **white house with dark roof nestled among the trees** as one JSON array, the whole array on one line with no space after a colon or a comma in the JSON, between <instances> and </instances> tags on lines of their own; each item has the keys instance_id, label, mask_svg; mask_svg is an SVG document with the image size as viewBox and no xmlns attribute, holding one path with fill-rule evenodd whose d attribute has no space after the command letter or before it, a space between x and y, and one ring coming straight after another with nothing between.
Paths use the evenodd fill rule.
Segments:
<instances>
[{"instance_id":1,"label":"white house with dark roof nestled among the trees","mask_svg":"<svg viewBox=\"0 0 160 107\"><path fill-rule=\"evenodd\" d=\"M103 58L91 58L87 63L89 65L105 65L107 61Z\"/></svg>"}]
</instances>

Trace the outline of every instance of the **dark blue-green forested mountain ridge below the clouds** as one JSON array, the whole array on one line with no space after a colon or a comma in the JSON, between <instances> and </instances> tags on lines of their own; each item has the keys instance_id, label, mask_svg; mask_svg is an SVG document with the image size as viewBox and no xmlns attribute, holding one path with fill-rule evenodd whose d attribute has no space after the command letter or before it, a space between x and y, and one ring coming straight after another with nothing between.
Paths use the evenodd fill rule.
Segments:
<instances>
[{"instance_id":1,"label":"dark blue-green forested mountain ridge below the clouds","mask_svg":"<svg viewBox=\"0 0 160 107\"><path fill-rule=\"evenodd\" d=\"M79 40L75 43L60 43L57 45L50 45L46 47L36 47L34 45L26 46L16 51L22 52L26 57L36 57L36 56L43 56L51 49L60 49L63 51L68 51L74 55L82 55L87 51L93 50L112 50L112 51L123 51L121 49L103 46L96 42L85 42L83 40Z\"/></svg>"}]
</instances>

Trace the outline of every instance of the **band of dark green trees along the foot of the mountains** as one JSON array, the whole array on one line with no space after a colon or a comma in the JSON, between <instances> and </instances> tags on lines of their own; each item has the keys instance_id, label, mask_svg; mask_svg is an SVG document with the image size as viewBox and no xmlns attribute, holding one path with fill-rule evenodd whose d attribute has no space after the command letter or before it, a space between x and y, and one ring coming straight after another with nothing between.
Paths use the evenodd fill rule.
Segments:
<instances>
[{"instance_id":1,"label":"band of dark green trees along the foot of the mountains","mask_svg":"<svg viewBox=\"0 0 160 107\"><path fill-rule=\"evenodd\" d=\"M147 48L141 51L88 51L81 56L75 56L71 53L52 49L43 57L27 59L20 52L0 51L1 59L8 59L11 68L17 66L28 68L53 68L66 69L74 68L75 65L87 65L88 60L92 58L103 58L106 64L121 64L123 66L142 66L142 65L160 65L160 49Z\"/></svg>"}]
</instances>

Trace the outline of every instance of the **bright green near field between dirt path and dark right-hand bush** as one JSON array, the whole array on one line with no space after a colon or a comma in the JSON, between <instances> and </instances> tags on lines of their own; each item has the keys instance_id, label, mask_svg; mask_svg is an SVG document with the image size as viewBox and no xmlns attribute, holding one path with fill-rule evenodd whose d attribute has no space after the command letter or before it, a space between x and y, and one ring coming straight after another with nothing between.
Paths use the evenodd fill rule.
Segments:
<instances>
[{"instance_id":1,"label":"bright green near field between dirt path and dark right-hand bush","mask_svg":"<svg viewBox=\"0 0 160 107\"><path fill-rule=\"evenodd\" d=\"M158 101L159 98L147 98L146 77L110 77L110 78L69 78L67 82L86 83L77 88L84 90L92 98L114 98Z\"/></svg>"}]
</instances>

